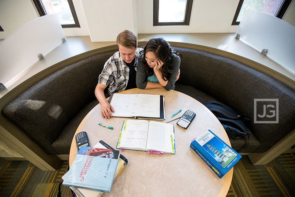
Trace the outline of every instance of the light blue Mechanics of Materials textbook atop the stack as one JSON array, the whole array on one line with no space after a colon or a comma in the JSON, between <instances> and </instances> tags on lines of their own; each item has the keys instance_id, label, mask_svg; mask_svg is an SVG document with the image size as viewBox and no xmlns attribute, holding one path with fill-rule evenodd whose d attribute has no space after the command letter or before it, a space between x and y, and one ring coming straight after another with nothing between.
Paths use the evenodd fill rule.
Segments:
<instances>
[{"instance_id":1,"label":"light blue Mechanics of Materials textbook atop the stack","mask_svg":"<svg viewBox=\"0 0 295 197\"><path fill-rule=\"evenodd\" d=\"M118 150L82 146L63 185L109 193L119 158Z\"/></svg>"}]
</instances>

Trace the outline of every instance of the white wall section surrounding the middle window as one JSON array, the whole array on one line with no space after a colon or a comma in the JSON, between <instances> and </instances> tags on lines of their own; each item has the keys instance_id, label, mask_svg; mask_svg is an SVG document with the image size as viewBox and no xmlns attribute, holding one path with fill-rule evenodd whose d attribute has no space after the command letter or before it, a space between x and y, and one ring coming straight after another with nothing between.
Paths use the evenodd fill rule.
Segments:
<instances>
[{"instance_id":1,"label":"white wall section surrounding the middle window","mask_svg":"<svg viewBox=\"0 0 295 197\"><path fill-rule=\"evenodd\" d=\"M153 1L137 0L138 33L234 33L239 0L194 0L189 26L153 26Z\"/></svg>"}]
</instances>

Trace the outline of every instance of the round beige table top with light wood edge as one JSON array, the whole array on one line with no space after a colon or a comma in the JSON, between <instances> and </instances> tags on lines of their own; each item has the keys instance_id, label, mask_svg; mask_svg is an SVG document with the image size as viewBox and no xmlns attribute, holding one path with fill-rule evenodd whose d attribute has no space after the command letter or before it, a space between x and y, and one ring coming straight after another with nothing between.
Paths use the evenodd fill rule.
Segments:
<instances>
[{"instance_id":1,"label":"round beige table top with light wood edge","mask_svg":"<svg viewBox=\"0 0 295 197\"><path fill-rule=\"evenodd\" d=\"M213 131L220 139L230 145L224 128L217 118L199 101L186 94L162 89L140 90L131 89L123 94L158 94L165 96L165 120L168 122L180 117L186 110L196 113L196 118L188 129L175 126L176 154L158 155L144 151L120 151L128 159L128 164L113 182L111 192L103 196L226 196L231 185L233 168L222 178L205 164L205 162L190 148L191 140L206 132ZM171 118L179 109L182 111ZM100 104L95 106L83 119L75 135L86 131L90 144L94 146L103 140L116 148L123 121L128 118L112 117L103 119L100 115ZM133 119L134 118L130 118ZM149 120L151 121L151 120ZM112 126L108 129L98 123ZM70 151L70 165L77 155L75 137Z\"/></svg>"}]
</instances>

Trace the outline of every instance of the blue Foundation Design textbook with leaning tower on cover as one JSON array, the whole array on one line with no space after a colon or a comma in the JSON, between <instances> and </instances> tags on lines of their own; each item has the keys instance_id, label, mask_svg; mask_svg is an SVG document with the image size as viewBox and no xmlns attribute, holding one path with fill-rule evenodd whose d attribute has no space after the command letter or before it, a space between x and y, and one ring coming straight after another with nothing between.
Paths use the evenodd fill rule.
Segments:
<instances>
[{"instance_id":1,"label":"blue Foundation Design textbook with leaning tower on cover","mask_svg":"<svg viewBox=\"0 0 295 197\"><path fill-rule=\"evenodd\" d=\"M194 139L190 147L219 178L223 177L242 157L210 130Z\"/></svg>"}]
</instances>

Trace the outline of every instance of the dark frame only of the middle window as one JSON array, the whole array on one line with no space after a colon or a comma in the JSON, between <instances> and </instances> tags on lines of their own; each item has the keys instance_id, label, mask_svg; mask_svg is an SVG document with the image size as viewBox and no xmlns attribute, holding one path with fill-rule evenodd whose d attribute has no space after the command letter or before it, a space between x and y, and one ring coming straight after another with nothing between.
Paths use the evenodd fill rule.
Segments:
<instances>
[{"instance_id":1,"label":"dark frame only of the middle window","mask_svg":"<svg viewBox=\"0 0 295 197\"><path fill-rule=\"evenodd\" d=\"M187 0L186 2L186 13L184 15L183 22L159 22L159 0L154 0L153 4L153 26L189 25L193 8L193 0Z\"/></svg>"}]
</instances>

